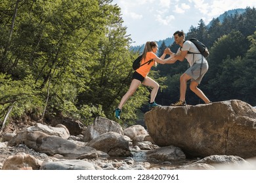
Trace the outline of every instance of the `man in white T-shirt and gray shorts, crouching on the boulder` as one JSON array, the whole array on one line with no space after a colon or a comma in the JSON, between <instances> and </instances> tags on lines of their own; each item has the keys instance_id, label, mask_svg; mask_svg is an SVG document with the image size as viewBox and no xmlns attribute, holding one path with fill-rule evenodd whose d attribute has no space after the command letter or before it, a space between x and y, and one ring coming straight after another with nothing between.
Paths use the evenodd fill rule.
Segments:
<instances>
[{"instance_id":1,"label":"man in white T-shirt and gray shorts, crouching on the boulder","mask_svg":"<svg viewBox=\"0 0 256 183\"><path fill-rule=\"evenodd\" d=\"M185 95L186 95L186 82L190 80L190 90L196 93L200 99L205 103L211 103L205 94L198 88L203 76L208 70L207 60L200 54L196 45L191 41L185 41L185 36L183 31L176 31L173 34L176 44L179 44L181 47L177 51L177 54L173 54L169 48L165 49L165 54L173 56L172 59L166 63L175 63L177 60L183 61L184 58L188 61L190 68L181 75L180 78L180 99L176 103L172 103L171 106L184 106L186 105ZM189 51L189 53L188 53ZM196 54L190 54L196 53Z\"/></svg>"}]
</instances>

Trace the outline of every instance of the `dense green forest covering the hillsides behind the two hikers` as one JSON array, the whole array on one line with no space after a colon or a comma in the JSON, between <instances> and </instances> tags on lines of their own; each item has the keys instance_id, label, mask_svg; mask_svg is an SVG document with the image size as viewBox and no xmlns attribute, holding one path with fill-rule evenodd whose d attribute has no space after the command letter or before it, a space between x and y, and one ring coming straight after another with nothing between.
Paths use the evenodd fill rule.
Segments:
<instances>
[{"instance_id":1,"label":"dense green forest covering the hillsides behind the two hikers","mask_svg":"<svg viewBox=\"0 0 256 183\"><path fill-rule=\"evenodd\" d=\"M96 116L114 119L114 109L131 82L131 38L112 0L1 0L0 126L24 115L68 116L86 124ZM256 11L202 20L190 27L210 50L209 71L200 89L211 101L240 99L256 105ZM160 52L167 46L162 42ZM168 45L169 46L169 45ZM178 49L174 43L169 46ZM179 97L187 63L158 65L150 76L161 85L156 101ZM142 118L150 88L140 87L123 107L120 124ZM189 90L187 103L201 101Z\"/></svg>"}]
</instances>

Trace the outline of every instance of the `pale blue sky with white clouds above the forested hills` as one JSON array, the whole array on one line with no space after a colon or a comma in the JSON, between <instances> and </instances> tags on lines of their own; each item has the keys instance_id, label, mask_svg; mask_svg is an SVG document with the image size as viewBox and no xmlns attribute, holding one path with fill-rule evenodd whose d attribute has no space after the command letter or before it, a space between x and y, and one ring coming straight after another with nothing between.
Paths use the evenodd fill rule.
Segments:
<instances>
[{"instance_id":1,"label":"pale blue sky with white clouds above the forested hills","mask_svg":"<svg viewBox=\"0 0 256 183\"><path fill-rule=\"evenodd\" d=\"M255 0L113 0L121 8L123 26L133 40L132 46L146 41L160 41L202 19L205 25L213 18L236 8L256 7Z\"/></svg>"}]
</instances>

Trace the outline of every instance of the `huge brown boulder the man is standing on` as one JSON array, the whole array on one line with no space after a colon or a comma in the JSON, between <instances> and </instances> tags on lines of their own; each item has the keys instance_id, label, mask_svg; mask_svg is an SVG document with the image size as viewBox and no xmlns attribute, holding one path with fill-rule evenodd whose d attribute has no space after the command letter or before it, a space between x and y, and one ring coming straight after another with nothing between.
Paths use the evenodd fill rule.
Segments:
<instances>
[{"instance_id":1,"label":"huge brown boulder the man is standing on","mask_svg":"<svg viewBox=\"0 0 256 183\"><path fill-rule=\"evenodd\" d=\"M239 101L158 107L145 123L159 146L178 146L191 156L256 156L256 109Z\"/></svg>"}]
</instances>

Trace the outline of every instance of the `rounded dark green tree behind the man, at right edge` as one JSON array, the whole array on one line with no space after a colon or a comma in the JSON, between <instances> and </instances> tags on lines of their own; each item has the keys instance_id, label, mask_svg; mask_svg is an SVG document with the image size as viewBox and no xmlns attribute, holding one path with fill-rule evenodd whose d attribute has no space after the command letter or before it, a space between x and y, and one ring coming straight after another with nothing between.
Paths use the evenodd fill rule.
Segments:
<instances>
[{"instance_id":1,"label":"rounded dark green tree behind the man, at right edge","mask_svg":"<svg viewBox=\"0 0 256 183\"><path fill-rule=\"evenodd\" d=\"M252 37L251 41L253 42ZM245 93L252 92L252 90L248 91L248 88L255 88L253 84L255 59L254 61L248 59L251 52L247 52L246 55L247 48L247 40L239 31L232 31L213 44L209 60L211 70L209 75L205 75L209 83L207 90L211 91L210 98L217 101L226 99L249 101Z\"/></svg>"}]
</instances>

